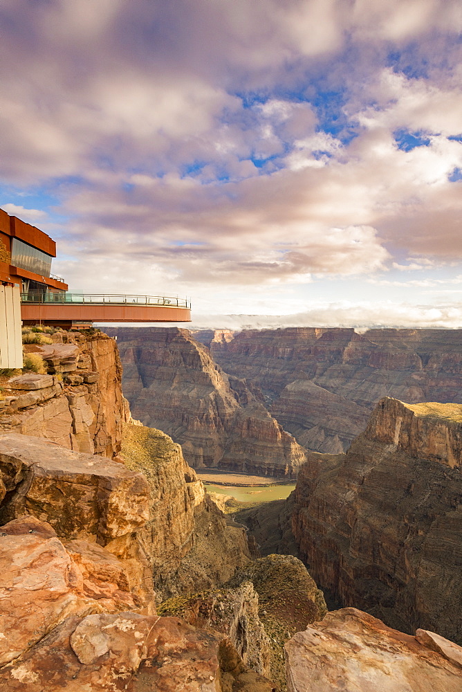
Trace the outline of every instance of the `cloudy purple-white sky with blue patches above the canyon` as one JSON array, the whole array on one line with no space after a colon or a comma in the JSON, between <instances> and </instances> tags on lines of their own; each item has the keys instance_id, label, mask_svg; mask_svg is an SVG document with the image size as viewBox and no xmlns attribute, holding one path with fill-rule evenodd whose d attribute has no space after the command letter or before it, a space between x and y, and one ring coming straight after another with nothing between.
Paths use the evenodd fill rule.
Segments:
<instances>
[{"instance_id":1,"label":"cloudy purple-white sky with blue patches above the canyon","mask_svg":"<svg viewBox=\"0 0 462 692\"><path fill-rule=\"evenodd\" d=\"M459 0L0 0L0 206L196 327L462 328Z\"/></svg>"}]
</instances>

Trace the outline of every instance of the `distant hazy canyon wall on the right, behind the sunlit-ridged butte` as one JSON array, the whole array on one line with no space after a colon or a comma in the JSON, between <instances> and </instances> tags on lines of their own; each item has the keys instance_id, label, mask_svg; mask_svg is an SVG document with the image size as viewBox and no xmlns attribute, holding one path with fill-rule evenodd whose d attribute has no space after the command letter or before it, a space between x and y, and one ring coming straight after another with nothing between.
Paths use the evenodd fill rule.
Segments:
<instances>
[{"instance_id":1,"label":"distant hazy canyon wall on the right, behind the sunlit-ridged butte","mask_svg":"<svg viewBox=\"0 0 462 692\"><path fill-rule=\"evenodd\" d=\"M225 372L259 388L284 429L315 451L346 450L382 397L462 403L462 330L294 327L195 338Z\"/></svg>"}]
</instances>

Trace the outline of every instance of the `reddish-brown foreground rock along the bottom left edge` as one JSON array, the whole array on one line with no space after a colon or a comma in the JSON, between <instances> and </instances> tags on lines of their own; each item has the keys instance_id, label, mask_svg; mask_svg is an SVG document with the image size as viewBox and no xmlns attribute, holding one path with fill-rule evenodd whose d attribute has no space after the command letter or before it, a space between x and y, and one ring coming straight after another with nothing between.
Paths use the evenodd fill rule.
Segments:
<instances>
[{"instance_id":1,"label":"reddish-brown foreground rock along the bottom left edge","mask_svg":"<svg viewBox=\"0 0 462 692\"><path fill-rule=\"evenodd\" d=\"M178 618L131 612L69 617L0 670L8 692L271 692L229 641Z\"/></svg>"}]
</instances>

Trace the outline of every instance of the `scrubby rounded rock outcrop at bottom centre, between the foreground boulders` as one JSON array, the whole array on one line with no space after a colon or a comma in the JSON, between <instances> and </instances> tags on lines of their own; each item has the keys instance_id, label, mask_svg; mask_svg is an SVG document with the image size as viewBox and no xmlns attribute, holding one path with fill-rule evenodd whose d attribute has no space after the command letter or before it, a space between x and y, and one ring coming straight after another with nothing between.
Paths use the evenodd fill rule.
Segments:
<instances>
[{"instance_id":1,"label":"scrubby rounded rock outcrop at bottom centre, between the foreground boulders","mask_svg":"<svg viewBox=\"0 0 462 692\"><path fill-rule=\"evenodd\" d=\"M284 644L322 619L326 604L299 560L270 555L248 563L220 589L169 599L159 612L225 633L246 664L285 690Z\"/></svg>"}]
</instances>

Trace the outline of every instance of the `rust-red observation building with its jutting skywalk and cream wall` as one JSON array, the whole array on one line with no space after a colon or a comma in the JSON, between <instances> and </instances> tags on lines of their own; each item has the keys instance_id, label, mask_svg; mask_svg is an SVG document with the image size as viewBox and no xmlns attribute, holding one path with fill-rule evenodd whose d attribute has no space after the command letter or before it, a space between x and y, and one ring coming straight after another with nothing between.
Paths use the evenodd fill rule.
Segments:
<instances>
[{"instance_id":1,"label":"rust-red observation building with its jutting skywalk and cream wall","mask_svg":"<svg viewBox=\"0 0 462 692\"><path fill-rule=\"evenodd\" d=\"M185 298L69 293L51 273L53 257L54 240L0 210L0 367L22 367L21 322L88 329L93 322L191 321Z\"/></svg>"}]
</instances>

